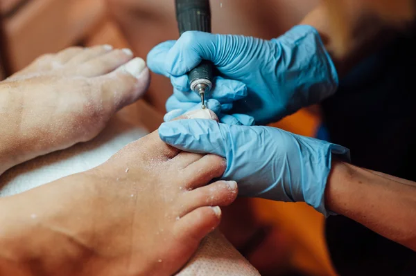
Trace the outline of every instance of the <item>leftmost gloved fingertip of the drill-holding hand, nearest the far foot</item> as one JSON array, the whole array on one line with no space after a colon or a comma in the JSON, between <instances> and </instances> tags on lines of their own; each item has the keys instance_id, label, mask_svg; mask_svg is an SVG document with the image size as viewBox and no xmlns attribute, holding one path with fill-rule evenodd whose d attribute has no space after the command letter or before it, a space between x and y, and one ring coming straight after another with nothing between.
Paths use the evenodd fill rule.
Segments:
<instances>
[{"instance_id":1,"label":"leftmost gloved fingertip of the drill-holding hand, nearest the far foot","mask_svg":"<svg viewBox=\"0 0 416 276\"><path fill-rule=\"evenodd\" d=\"M175 45L175 40L168 40L155 46L147 56L147 65L151 71L165 77L170 77L171 74L166 71L166 56L169 50Z\"/></svg>"}]
</instances>

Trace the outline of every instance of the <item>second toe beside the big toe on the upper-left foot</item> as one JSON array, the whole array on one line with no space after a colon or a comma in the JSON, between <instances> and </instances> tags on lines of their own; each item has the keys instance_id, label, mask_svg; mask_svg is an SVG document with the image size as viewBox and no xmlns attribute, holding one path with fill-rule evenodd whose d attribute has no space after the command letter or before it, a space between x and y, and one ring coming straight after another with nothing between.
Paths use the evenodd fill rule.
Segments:
<instances>
[{"instance_id":1,"label":"second toe beside the big toe on the upper-left foot","mask_svg":"<svg viewBox=\"0 0 416 276\"><path fill-rule=\"evenodd\" d=\"M129 49L112 50L69 70L71 73L76 73L77 75L83 75L85 77L98 77L114 71L116 68L119 68L119 66L130 61L132 57L133 53Z\"/></svg>"}]
</instances>

